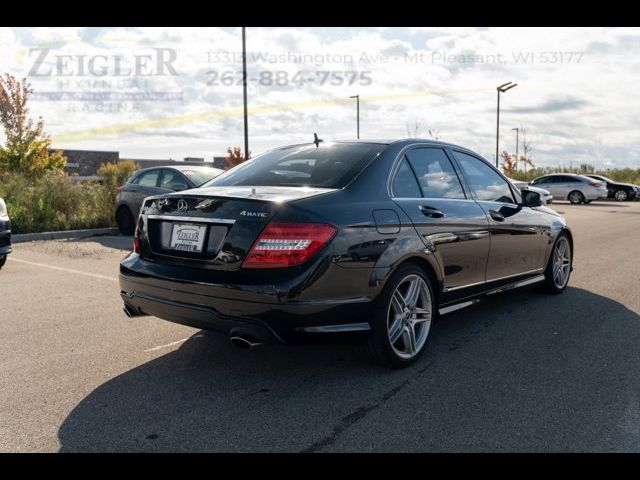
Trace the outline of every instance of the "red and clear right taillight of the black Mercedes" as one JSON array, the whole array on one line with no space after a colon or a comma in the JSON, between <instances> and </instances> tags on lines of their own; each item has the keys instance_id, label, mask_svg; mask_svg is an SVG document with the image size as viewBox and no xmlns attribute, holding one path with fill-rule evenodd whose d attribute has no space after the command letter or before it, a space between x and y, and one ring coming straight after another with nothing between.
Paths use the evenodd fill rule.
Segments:
<instances>
[{"instance_id":1,"label":"red and clear right taillight of the black Mercedes","mask_svg":"<svg viewBox=\"0 0 640 480\"><path fill-rule=\"evenodd\" d=\"M300 265L325 247L336 234L325 223L272 222L251 247L243 268L281 268Z\"/></svg>"}]
</instances>

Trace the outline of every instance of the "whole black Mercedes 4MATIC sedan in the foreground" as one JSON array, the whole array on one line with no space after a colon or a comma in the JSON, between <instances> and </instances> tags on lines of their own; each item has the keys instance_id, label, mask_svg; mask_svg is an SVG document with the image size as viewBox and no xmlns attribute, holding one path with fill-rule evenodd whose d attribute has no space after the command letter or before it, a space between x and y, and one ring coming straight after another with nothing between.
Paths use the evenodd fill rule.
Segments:
<instances>
[{"instance_id":1,"label":"whole black Mercedes 4MATIC sedan in the foreground","mask_svg":"<svg viewBox=\"0 0 640 480\"><path fill-rule=\"evenodd\" d=\"M404 367L437 315L572 270L565 220L478 154L419 139L277 148L145 199L120 265L128 316L232 343L355 336Z\"/></svg>"}]
</instances>

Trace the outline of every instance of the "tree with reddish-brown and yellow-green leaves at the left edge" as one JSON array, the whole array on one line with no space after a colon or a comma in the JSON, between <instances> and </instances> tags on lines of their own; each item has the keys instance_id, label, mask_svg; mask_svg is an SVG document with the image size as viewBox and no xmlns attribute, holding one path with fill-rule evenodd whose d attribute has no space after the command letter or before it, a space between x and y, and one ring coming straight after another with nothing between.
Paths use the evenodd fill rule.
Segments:
<instances>
[{"instance_id":1,"label":"tree with reddish-brown and yellow-green leaves at the left edge","mask_svg":"<svg viewBox=\"0 0 640 480\"><path fill-rule=\"evenodd\" d=\"M21 172L36 178L47 171L62 172L67 163L60 151L51 152L44 120L29 118L27 100L33 93L26 78L0 75L0 123L6 137L0 147L0 171Z\"/></svg>"}]
</instances>

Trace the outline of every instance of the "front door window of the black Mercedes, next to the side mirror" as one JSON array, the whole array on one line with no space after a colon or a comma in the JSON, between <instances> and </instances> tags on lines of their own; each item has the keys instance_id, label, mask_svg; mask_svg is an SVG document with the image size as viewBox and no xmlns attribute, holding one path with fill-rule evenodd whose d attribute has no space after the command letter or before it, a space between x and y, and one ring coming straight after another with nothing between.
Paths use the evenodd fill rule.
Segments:
<instances>
[{"instance_id":1,"label":"front door window of the black Mercedes, next to the side mirror","mask_svg":"<svg viewBox=\"0 0 640 480\"><path fill-rule=\"evenodd\" d=\"M478 200L515 203L509 184L493 168L466 153L454 151L453 154Z\"/></svg>"}]
</instances>

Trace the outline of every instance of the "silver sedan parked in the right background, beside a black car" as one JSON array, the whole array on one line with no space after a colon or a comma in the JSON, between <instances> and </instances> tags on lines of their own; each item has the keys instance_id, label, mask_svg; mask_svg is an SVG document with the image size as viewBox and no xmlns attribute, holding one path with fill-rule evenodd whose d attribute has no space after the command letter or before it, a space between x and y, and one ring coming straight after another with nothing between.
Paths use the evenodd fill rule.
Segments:
<instances>
[{"instance_id":1,"label":"silver sedan parked in the right background, beside a black car","mask_svg":"<svg viewBox=\"0 0 640 480\"><path fill-rule=\"evenodd\" d=\"M604 182L574 173L543 175L529 182L529 185L548 190L555 200L569 200L573 204L607 198Z\"/></svg>"}]
</instances>

